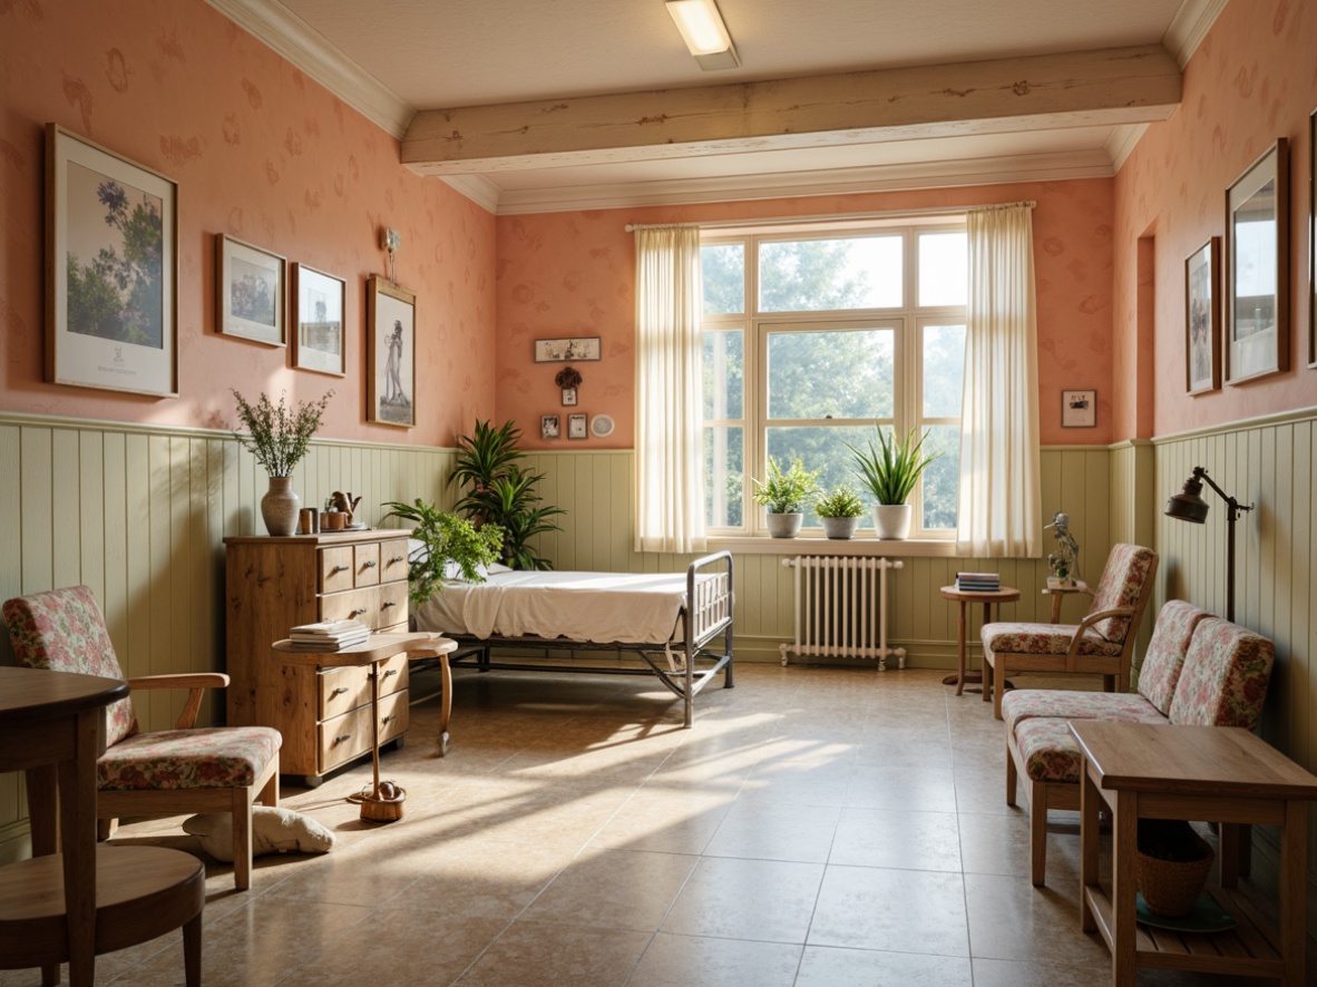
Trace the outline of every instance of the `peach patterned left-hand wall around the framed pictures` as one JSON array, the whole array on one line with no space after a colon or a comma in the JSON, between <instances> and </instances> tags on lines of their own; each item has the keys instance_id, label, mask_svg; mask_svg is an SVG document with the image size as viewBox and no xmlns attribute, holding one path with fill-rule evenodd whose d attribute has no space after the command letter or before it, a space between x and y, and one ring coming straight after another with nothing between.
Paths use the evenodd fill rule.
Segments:
<instances>
[{"instance_id":1,"label":"peach patterned left-hand wall around the framed pictures","mask_svg":"<svg viewBox=\"0 0 1317 987\"><path fill-rule=\"evenodd\" d=\"M452 445L494 411L494 218L399 164L398 141L202 0L0 3L0 408L223 428L253 397L333 388L321 436ZM179 186L179 392L43 383L43 132L55 121ZM417 293L419 425L365 421L365 278L402 232ZM345 379L215 333L215 234L348 280Z\"/></svg>"}]
</instances>

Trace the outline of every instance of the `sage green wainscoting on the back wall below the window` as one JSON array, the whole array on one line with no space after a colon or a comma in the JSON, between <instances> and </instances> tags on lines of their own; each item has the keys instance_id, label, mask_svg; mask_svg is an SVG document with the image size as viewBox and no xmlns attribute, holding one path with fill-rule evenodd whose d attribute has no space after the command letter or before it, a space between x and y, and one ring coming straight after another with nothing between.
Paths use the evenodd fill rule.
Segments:
<instances>
[{"instance_id":1,"label":"sage green wainscoting on the back wall below the window","mask_svg":"<svg viewBox=\"0 0 1317 987\"><path fill-rule=\"evenodd\" d=\"M1071 530L1080 545L1080 571L1096 582L1106 562L1113 537L1110 496L1114 491L1112 451L1106 446L1050 446L1042 454L1044 519L1056 511L1071 517ZM562 530L540 541L540 549L557 569L618 572L670 572L685 569L687 555L637 553L633 550L633 455L615 451L537 451L527 465L545 474L540 486L547 503L566 508L557 519ZM809 554L817 541L795 538L774 542L774 554L756 545L755 553L738 553L736 565L736 655L741 661L780 661L778 645L793 640L794 574L782 559ZM1055 547L1043 533L1038 559L965 559L901 557L903 569L889 576L889 647L905 647L907 667L954 669L956 665L956 613L938 594L955 582L963 569L1000 571L1002 583L1023 591L1018 604L1006 605L1006 620L1047 620L1050 597L1040 595L1046 583L1046 554ZM894 549L893 549L894 550ZM874 554L881 554L876 551ZM979 608L971 641L977 641ZM1085 605L1065 604L1063 620L1077 621ZM794 661L794 659L793 659ZM839 662L840 663L840 662ZM846 663L872 665L861 659ZM894 667L894 665L889 665Z\"/></svg>"}]
</instances>

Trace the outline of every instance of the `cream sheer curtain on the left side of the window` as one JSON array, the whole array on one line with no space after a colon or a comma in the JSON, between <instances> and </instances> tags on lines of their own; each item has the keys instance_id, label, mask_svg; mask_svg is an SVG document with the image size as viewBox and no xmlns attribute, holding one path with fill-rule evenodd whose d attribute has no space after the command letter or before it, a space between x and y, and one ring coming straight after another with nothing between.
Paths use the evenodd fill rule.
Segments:
<instances>
[{"instance_id":1,"label":"cream sheer curtain on the left side of the window","mask_svg":"<svg viewBox=\"0 0 1317 987\"><path fill-rule=\"evenodd\" d=\"M636 228L636 550L705 550L698 226Z\"/></svg>"}]
</instances>

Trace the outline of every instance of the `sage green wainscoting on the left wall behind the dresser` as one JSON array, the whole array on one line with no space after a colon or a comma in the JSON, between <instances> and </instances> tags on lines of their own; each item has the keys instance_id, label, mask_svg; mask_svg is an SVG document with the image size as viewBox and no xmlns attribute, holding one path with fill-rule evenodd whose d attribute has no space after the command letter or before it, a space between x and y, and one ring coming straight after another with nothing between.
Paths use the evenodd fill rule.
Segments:
<instances>
[{"instance_id":1,"label":"sage green wainscoting on the left wall behind the dresser","mask_svg":"<svg viewBox=\"0 0 1317 987\"><path fill-rule=\"evenodd\" d=\"M452 450L316 441L294 474L304 507L336 490L386 500L452 496ZM86 583L125 675L223 671L224 544L262 533L265 472L228 432L0 415L0 600ZM12 665L8 634L0 663ZM142 729L171 726L186 695L151 691ZM202 722L223 696L208 694ZM22 776L0 775L0 862L28 853Z\"/></svg>"}]
</instances>

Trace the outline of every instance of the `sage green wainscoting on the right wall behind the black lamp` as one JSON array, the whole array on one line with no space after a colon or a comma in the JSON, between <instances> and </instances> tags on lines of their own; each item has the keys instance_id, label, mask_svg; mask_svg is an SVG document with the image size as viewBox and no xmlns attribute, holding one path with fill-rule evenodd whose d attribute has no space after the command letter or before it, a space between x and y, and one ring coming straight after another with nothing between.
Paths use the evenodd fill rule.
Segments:
<instances>
[{"instance_id":1,"label":"sage green wainscoting on the right wall behind the black lamp","mask_svg":"<svg viewBox=\"0 0 1317 987\"><path fill-rule=\"evenodd\" d=\"M1317 772L1317 409L1159 438L1156 445L1160 596L1226 611L1226 507L1210 488L1206 524L1162 515L1195 466L1254 509L1235 525L1235 622L1276 642L1260 733ZM1276 838L1255 826L1255 849L1275 866ZM1317 934L1317 805L1309 807L1308 929Z\"/></svg>"}]
</instances>

